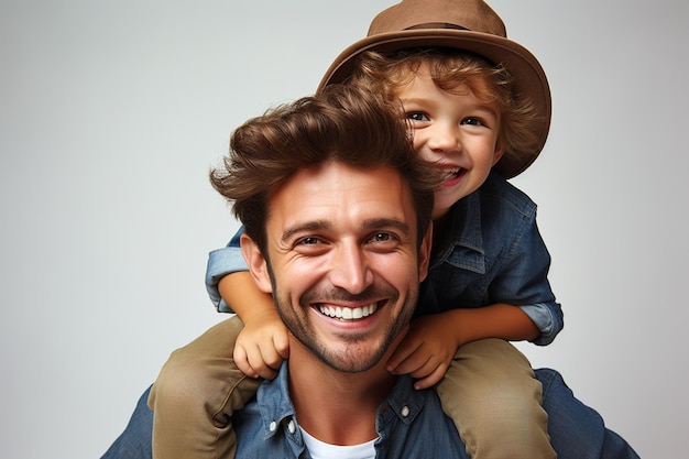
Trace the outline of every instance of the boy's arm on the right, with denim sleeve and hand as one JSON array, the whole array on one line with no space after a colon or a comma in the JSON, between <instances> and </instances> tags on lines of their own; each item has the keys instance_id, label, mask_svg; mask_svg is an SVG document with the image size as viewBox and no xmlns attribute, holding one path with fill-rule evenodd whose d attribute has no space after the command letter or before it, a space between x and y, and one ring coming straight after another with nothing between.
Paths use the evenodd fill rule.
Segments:
<instances>
[{"instance_id":1,"label":"boy's arm on the right, with denim sleeve and hand","mask_svg":"<svg viewBox=\"0 0 689 459\"><path fill-rule=\"evenodd\" d=\"M417 387L428 387L442 378L457 349L467 342L484 338L537 345L553 341L562 329L562 313L548 282L550 255L536 225L535 205L529 208L532 212L520 212L521 223L508 234L502 227L497 232L496 240L504 245L495 245L501 249L492 254L497 264L488 270L494 273L492 277L484 278L485 297L496 303L475 308L450 305L455 309L415 319L389 362L391 371L409 373L419 379Z\"/></svg>"}]
</instances>

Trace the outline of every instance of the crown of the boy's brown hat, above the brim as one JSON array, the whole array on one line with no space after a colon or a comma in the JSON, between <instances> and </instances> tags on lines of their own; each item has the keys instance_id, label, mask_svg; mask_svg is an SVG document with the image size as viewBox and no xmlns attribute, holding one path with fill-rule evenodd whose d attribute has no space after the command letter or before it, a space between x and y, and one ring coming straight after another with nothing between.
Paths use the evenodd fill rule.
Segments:
<instances>
[{"instance_id":1,"label":"crown of the boy's brown hat, above the brim","mask_svg":"<svg viewBox=\"0 0 689 459\"><path fill-rule=\"evenodd\" d=\"M402 0L373 19L368 35L415 29L463 29L507 36L497 13L480 0Z\"/></svg>"}]
</instances>

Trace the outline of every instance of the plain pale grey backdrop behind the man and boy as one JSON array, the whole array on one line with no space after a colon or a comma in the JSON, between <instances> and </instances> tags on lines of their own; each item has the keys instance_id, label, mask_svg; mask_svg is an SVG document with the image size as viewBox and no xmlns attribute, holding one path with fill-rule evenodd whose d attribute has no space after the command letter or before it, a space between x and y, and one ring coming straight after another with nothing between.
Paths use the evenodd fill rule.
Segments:
<instances>
[{"instance_id":1,"label":"plain pale grey backdrop behind the man and boy","mask_svg":"<svg viewBox=\"0 0 689 459\"><path fill-rule=\"evenodd\" d=\"M207 181L394 0L0 0L0 456L98 458L168 353L226 316ZM682 0L494 0L554 96L539 204L566 313L521 348L646 458L680 459L689 193Z\"/></svg>"}]
</instances>

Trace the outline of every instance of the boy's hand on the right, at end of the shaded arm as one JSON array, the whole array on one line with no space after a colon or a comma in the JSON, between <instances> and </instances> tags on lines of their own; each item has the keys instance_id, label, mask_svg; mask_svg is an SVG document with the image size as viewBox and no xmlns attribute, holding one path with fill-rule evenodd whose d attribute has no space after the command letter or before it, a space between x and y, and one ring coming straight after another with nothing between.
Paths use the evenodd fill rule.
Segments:
<instances>
[{"instance_id":1,"label":"boy's hand on the right, at end of the shaded arm","mask_svg":"<svg viewBox=\"0 0 689 459\"><path fill-rule=\"evenodd\" d=\"M442 314L412 320L409 331L387 362L394 374L417 379L415 389L427 389L442 379L459 347L451 321Z\"/></svg>"}]
</instances>

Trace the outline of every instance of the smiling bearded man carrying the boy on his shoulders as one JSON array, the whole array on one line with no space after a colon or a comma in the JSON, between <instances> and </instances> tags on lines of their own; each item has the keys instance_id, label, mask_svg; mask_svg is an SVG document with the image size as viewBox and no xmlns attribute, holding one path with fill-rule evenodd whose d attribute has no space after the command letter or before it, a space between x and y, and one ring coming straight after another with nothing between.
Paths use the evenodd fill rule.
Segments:
<instances>
[{"instance_id":1,"label":"smiling bearded man carrying the boy on his shoulders","mask_svg":"<svg viewBox=\"0 0 689 459\"><path fill-rule=\"evenodd\" d=\"M426 276L438 183L400 119L335 85L240 127L211 174L291 332L278 376L232 419L238 458L468 457L435 392L385 368ZM560 457L636 457L556 372L537 378ZM150 457L145 396L105 457Z\"/></svg>"}]
</instances>

